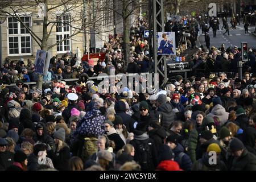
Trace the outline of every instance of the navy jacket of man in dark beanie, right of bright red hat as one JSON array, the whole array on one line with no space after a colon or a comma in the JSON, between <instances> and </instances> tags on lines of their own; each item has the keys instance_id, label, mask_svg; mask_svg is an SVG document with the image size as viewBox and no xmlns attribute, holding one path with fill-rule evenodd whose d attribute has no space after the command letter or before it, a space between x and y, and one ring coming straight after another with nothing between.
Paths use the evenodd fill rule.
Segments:
<instances>
[{"instance_id":1,"label":"navy jacket of man in dark beanie, right of bright red hat","mask_svg":"<svg viewBox=\"0 0 256 182\"><path fill-rule=\"evenodd\" d=\"M177 146L172 150L175 154L174 160L179 163L180 168L185 171L190 171L192 168L192 161L190 157L184 153L184 148L181 144L177 144ZM183 156L181 156L183 154Z\"/></svg>"}]
</instances>

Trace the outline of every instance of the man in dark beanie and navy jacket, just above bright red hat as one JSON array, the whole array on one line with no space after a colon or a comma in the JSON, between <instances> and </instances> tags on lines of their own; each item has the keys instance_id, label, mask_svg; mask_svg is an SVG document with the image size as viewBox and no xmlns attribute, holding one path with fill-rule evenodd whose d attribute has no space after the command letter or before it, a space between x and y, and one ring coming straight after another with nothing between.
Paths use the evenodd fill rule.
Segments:
<instances>
[{"instance_id":1,"label":"man in dark beanie and navy jacket, just above bright red hat","mask_svg":"<svg viewBox=\"0 0 256 182\"><path fill-rule=\"evenodd\" d=\"M166 144L171 148L175 154L174 160L179 163L180 168L185 171L190 171L192 168L192 161L190 157L184 153L184 148L178 143L177 135L170 135L166 139Z\"/></svg>"}]
</instances>

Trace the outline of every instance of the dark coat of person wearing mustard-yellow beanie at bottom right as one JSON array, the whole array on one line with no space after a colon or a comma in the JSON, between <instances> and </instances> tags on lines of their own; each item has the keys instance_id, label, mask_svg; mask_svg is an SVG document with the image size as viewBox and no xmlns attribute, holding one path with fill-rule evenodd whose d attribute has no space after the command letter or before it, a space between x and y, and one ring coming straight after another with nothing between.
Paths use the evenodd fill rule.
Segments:
<instances>
[{"instance_id":1,"label":"dark coat of person wearing mustard-yellow beanie at bottom right","mask_svg":"<svg viewBox=\"0 0 256 182\"><path fill-rule=\"evenodd\" d=\"M207 152L204 153L203 158L197 160L192 167L192 171L226 171L225 163L217 159L217 164L209 164L209 158Z\"/></svg>"}]
</instances>

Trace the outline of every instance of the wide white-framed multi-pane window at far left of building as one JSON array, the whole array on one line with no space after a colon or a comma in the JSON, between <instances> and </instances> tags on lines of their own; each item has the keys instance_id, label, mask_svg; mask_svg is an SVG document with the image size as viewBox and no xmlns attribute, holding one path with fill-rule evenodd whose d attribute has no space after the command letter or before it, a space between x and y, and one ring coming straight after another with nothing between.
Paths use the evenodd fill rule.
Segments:
<instances>
[{"instance_id":1,"label":"wide white-framed multi-pane window at far left of building","mask_svg":"<svg viewBox=\"0 0 256 182\"><path fill-rule=\"evenodd\" d=\"M21 16L20 20L31 28L31 16ZM28 30L13 17L8 18L8 55L32 55L32 39Z\"/></svg>"}]
</instances>

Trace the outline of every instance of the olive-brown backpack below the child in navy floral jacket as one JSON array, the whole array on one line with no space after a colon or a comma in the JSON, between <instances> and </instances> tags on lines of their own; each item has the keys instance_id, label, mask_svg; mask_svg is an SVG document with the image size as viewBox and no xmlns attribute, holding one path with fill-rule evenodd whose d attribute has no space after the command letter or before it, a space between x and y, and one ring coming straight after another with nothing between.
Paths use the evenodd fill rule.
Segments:
<instances>
[{"instance_id":1,"label":"olive-brown backpack below the child in navy floral jacket","mask_svg":"<svg viewBox=\"0 0 256 182\"><path fill-rule=\"evenodd\" d=\"M85 162L89 156L97 152L97 137L85 137L81 151L81 159Z\"/></svg>"}]
</instances>

